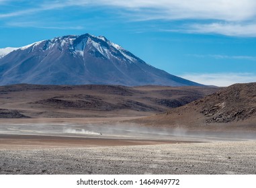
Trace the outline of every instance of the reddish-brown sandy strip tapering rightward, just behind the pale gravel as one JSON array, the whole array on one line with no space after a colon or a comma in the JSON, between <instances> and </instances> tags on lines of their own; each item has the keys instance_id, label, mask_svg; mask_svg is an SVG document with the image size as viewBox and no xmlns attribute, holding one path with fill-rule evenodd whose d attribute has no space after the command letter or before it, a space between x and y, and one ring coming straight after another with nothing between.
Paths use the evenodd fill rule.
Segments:
<instances>
[{"instance_id":1,"label":"reddish-brown sandy strip tapering rightward, just behind the pale gravel","mask_svg":"<svg viewBox=\"0 0 256 188\"><path fill-rule=\"evenodd\" d=\"M0 150L181 144L188 141L0 134Z\"/></svg>"}]
</instances>

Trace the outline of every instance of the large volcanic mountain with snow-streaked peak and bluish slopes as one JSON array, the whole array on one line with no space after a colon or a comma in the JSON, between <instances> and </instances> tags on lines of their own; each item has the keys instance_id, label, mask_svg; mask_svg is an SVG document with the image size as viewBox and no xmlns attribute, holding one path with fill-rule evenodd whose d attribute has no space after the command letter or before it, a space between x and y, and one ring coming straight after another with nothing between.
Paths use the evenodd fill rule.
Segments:
<instances>
[{"instance_id":1,"label":"large volcanic mountain with snow-streaked peak and bluish slopes","mask_svg":"<svg viewBox=\"0 0 256 188\"><path fill-rule=\"evenodd\" d=\"M62 36L0 49L0 85L200 85L146 64L103 36Z\"/></svg>"}]
</instances>

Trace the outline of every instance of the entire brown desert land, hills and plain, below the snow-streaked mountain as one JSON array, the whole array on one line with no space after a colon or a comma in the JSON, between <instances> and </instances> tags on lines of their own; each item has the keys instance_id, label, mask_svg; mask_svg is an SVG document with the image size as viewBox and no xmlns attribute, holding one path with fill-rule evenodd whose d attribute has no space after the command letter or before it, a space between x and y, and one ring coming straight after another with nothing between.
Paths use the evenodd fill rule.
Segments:
<instances>
[{"instance_id":1,"label":"entire brown desert land, hills and plain, below the snow-streaked mountain","mask_svg":"<svg viewBox=\"0 0 256 188\"><path fill-rule=\"evenodd\" d=\"M1 87L0 174L256 174L248 87Z\"/></svg>"}]
</instances>

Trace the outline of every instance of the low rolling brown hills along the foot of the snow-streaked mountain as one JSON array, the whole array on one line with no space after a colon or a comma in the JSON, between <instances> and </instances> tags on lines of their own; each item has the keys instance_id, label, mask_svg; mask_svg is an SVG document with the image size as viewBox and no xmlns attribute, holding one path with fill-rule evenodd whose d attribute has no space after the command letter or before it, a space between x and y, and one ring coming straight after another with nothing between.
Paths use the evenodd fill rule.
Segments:
<instances>
[{"instance_id":1,"label":"low rolling brown hills along the foot of the snow-streaked mountain","mask_svg":"<svg viewBox=\"0 0 256 188\"><path fill-rule=\"evenodd\" d=\"M5 109L0 111L0 118L146 116L185 105L217 90L214 87L9 85L0 87L0 105Z\"/></svg>"}]
</instances>

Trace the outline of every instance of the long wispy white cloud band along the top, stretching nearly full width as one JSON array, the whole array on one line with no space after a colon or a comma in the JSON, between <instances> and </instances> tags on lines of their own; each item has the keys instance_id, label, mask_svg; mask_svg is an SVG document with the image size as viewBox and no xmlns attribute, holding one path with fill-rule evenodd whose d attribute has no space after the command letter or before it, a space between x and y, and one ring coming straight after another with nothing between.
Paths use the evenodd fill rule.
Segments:
<instances>
[{"instance_id":1,"label":"long wispy white cloud band along the top, stretching nearly full width","mask_svg":"<svg viewBox=\"0 0 256 188\"><path fill-rule=\"evenodd\" d=\"M254 0L215 0L207 3L205 0L66 0L42 1L36 8L9 13L9 16L72 6L120 7L132 11L132 15L144 16L145 19L219 19L243 21L253 19L256 15L256 1Z\"/></svg>"}]
</instances>

